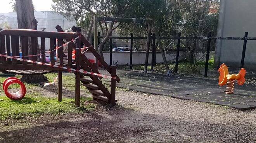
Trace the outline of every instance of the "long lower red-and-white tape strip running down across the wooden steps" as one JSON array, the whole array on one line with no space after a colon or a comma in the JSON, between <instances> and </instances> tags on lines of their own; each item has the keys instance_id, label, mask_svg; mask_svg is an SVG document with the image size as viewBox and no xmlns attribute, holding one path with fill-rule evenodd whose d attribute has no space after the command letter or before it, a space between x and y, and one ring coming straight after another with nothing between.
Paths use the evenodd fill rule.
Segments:
<instances>
[{"instance_id":1,"label":"long lower red-and-white tape strip running down across the wooden steps","mask_svg":"<svg viewBox=\"0 0 256 143\"><path fill-rule=\"evenodd\" d=\"M87 72L85 70L76 70L74 68L67 68L67 67L63 67L61 65L59 65L59 66L51 65L51 64L48 64L48 63L42 63L42 62L39 62L39 61L26 60L26 59L17 58L17 57L14 57L14 56L7 56L7 55L3 55L3 54L0 54L0 56L5 57L5 58L9 58L9 59L19 60L19 61L26 61L26 62L29 62L29 63L35 63L35 64L38 64L38 65L46 65L46 66L52 66L52 67L55 67L55 68L62 68L64 70L67 70L67 71L70 71L70 72L80 72L80 73L85 73L85 74L89 74L89 75L96 75L98 77L105 77L105 78L116 79L116 77L111 77L111 76L108 76L108 75L102 75L102 74L93 73L93 72Z\"/></svg>"}]
</instances>

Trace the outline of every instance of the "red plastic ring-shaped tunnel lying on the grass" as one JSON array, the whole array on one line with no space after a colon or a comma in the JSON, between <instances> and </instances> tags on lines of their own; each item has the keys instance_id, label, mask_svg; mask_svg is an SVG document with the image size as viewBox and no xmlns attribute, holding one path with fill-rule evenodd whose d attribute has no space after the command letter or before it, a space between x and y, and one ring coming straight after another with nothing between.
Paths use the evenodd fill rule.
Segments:
<instances>
[{"instance_id":1,"label":"red plastic ring-shaped tunnel lying on the grass","mask_svg":"<svg viewBox=\"0 0 256 143\"><path fill-rule=\"evenodd\" d=\"M11 84L17 83L20 85L19 91L15 92L15 93L10 93L8 91L8 87ZM19 80L19 78L16 77L9 77L6 78L3 82L3 91L5 92L5 95L12 100L21 100L25 94L26 94L26 87L24 85L24 83L21 82L21 80Z\"/></svg>"}]
</instances>

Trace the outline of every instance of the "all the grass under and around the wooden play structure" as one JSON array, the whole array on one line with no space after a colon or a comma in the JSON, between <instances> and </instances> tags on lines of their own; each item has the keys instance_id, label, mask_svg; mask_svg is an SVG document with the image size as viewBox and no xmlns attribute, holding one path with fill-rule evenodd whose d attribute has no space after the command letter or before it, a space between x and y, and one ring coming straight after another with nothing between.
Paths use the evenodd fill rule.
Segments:
<instances>
[{"instance_id":1,"label":"all the grass under and around the wooden play structure","mask_svg":"<svg viewBox=\"0 0 256 143\"><path fill-rule=\"evenodd\" d=\"M57 76L57 73L45 74L49 82L52 82ZM17 76L18 78L20 76ZM0 77L0 86L7 77ZM67 90L74 91L75 79L72 75L63 75L62 77L63 87ZM34 117L46 114L65 114L65 113L83 113L86 111L92 111L97 104L87 103L86 101L92 100L90 97L81 97L80 107L74 105L74 98L63 98L62 102L58 102L57 98L44 97L43 93L38 91L39 84L24 83L27 92L22 100L10 100L5 96L3 90L0 90L0 121L6 119L20 119L22 117ZM11 85L9 89L19 89L19 85ZM35 90L36 89L36 90ZM39 89L40 90L40 89ZM31 92L32 91L32 92ZM56 89L57 91L57 89ZM88 90L81 86L81 91L88 92ZM89 92L88 92L89 93Z\"/></svg>"}]
</instances>

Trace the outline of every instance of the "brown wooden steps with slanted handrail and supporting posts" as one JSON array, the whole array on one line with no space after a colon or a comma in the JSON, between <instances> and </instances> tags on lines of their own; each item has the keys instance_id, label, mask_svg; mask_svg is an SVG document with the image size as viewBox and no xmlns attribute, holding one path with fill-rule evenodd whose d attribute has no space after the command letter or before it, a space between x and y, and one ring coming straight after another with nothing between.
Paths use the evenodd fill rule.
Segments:
<instances>
[{"instance_id":1,"label":"brown wooden steps with slanted handrail and supporting posts","mask_svg":"<svg viewBox=\"0 0 256 143\"><path fill-rule=\"evenodd\" d=\"M64 32L59 25L56 26L57 31ZM75 26L72 27L74 32L80 32L79 29ZM116 103L116 82L120 82L120 78L116 75L116 66L107 65L106 61L99 55L99 53L93 48L93 46L86 40L86 38L81 35L75 39L76 44L72 43L71 47L76 50L76 68L78 70L83 69L87 72L93 72L100 74L97 65L95 63L91 63L89 59L85 56L85 52L81 52L80 47L81 43L84 44L84 47L88 47L86 52L91 52L97 60L104 66L104 68L110 73L111 77L111 87L110 92L108 89L102 84L102 77L98 77L96 75L90 74L76 74L76 106L80 105L80 81L83 85L89 90L93 95L93 99L103 100L109 102L111 105L115 105ZM71 50L68 50L68 55L71 55Z\"/></svg>"}]
</instances>

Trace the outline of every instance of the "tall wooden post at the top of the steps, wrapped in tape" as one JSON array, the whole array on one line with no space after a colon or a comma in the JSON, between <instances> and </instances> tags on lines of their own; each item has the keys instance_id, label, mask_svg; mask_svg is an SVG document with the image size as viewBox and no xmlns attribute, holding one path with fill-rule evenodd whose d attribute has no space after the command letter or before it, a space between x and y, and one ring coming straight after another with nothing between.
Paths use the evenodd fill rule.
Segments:
<instances>
[{"instance_id":1,"label":"tall wooden post at the top of the steps, wrapped in tape","mask_svg":"<svg viewBox=\"0 0 256 143\"><path fill-rule=\"evenodd\" d=\"M76 31L81 32L81 31ZM81 33L80 33L81 34ZM80 70L80 54L81 54L81 39L76 39L76 69ZM75 83L75 104L77 107L80 106L80 72L76 72L76 83Z\"/></svg>"}]
</instances>

